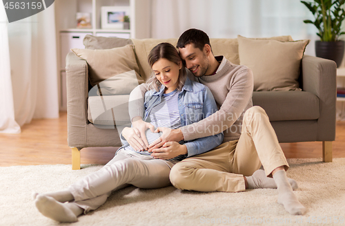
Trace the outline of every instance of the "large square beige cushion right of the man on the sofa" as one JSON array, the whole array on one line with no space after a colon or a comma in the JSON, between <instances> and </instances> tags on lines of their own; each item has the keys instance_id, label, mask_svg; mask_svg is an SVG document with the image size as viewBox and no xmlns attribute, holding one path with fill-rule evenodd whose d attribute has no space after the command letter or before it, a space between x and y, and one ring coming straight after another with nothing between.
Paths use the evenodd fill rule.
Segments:
<instances>
[{"instance_id":1,"label":"large square beige cushion right of the man on the sofa","mask_svg":"<svg viewBox=\"0 0 345 226\"><path fill-rule=\"evenodd\" d=\"M254 91L301 90L297 81L309 40L277 41L238 36L239 62L253 70Z\"/></svg>"}]
</instances>

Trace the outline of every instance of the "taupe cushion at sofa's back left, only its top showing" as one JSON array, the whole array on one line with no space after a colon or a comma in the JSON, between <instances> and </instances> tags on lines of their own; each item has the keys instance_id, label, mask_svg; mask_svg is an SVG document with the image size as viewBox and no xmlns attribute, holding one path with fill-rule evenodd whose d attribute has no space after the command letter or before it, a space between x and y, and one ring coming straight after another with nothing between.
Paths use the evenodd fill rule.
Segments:
<instances>
[{"instance_id":1,"label":"taupe cushion at sofa's back left, only its top showing","mask_svg":"<svg viewBox=\"0 0 345 226\"><path fill-rule=\"evenodd\" d=\"M122 39L118 37L97 37L86 35L83 39L83 45L90 50L101 50L108 48L117 48L133 44L130 39Z\"/></svg>"}]
</instances>

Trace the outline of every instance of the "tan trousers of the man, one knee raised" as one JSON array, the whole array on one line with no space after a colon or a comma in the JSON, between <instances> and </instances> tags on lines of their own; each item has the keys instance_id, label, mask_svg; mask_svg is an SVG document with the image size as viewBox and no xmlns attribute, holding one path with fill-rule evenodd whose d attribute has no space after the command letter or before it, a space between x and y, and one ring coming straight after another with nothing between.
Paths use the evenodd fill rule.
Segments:
<instances>
[{"instance_id":1,"label":"tan trousers of the man, one knee raised","mask_svg":"<svg viewBox=\"0 0 345 226\"><path fill-rule=\"evenodd\" d=\"M177 189L194 191L244 191L244 176L261 166L267 176L288 162L264 109L253 106L244 113L239 140L175 164L170 181Z\"/></svg>"}]
</instances>

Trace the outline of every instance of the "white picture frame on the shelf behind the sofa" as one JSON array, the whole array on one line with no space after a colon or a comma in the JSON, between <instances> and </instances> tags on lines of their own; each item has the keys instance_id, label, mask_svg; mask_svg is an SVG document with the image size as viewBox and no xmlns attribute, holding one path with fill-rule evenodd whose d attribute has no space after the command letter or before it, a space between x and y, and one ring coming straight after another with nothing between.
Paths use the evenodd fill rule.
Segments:
<instances>
[{"instance_id":1,"label":"white picture frame on the shelf behind the sofa","mask_svg":"<svg viewBox=\"0 0 345 226\"><path fill-rule=\"evenodd\" d=\"M102 6L101 28L124 30L124 16L130 17L129 6Z\"/></svg>"}]
</instances>

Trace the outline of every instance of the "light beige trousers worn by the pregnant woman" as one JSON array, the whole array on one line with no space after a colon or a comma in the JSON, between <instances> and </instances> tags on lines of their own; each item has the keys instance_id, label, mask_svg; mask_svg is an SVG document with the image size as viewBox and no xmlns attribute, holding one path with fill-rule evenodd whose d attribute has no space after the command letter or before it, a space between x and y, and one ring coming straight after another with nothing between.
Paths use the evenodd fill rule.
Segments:
<instances>
[{"instance_id":1,"label":"light beige trousers worn by the pregnant woman","mask_svg":"<svg viewBox=\"0 0 345 226\"><path fill-rule=\"evenodd\" d=\"M153 189L170 184L172 162L120 149L102 169L68 187L84 214L106 203L112 191L134 185Z\"/></svg>"}]
</instances>

